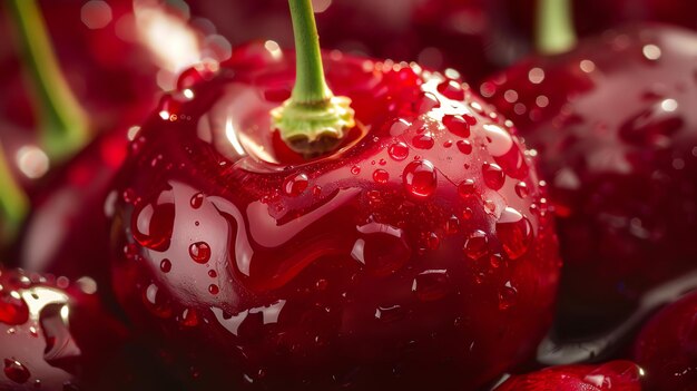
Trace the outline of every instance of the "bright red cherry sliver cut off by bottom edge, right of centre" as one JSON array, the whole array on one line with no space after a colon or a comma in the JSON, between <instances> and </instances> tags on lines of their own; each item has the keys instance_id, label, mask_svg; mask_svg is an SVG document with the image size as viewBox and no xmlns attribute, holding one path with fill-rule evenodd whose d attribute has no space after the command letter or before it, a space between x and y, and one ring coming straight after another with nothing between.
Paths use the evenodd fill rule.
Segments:
<instances>
[{"instance_id":1,"label":"bright red cherry sliver cut off by bottom edge, right of centre","mask_svg":"<svg viewBox=\"0 0 697 391\"><path fill-rule=\"evenodd\" d=\"M550 366L514 375L494 391L641 391L642 377L641 368L630 361Z\"/></svg>"}]
</instances>

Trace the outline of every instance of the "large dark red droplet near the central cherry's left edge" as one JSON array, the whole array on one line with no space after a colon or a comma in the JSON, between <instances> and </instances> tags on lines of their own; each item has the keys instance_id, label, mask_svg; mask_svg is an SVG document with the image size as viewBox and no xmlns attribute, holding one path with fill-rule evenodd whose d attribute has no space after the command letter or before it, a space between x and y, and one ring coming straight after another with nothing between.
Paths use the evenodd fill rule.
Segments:
<instances>
[{"instance_id":1,"label":"large dark red droplet near the central cherry's left edge","mask_svg":"<svg viewBox=\"0 0 697 391\"><path fill-rule=\"evenodd\" d=\"M174 195L171 190L165 190L155 202L136 207L131 217L132 236L144 247L167 251L174 221Z\"/></svg>"}]
</instances>

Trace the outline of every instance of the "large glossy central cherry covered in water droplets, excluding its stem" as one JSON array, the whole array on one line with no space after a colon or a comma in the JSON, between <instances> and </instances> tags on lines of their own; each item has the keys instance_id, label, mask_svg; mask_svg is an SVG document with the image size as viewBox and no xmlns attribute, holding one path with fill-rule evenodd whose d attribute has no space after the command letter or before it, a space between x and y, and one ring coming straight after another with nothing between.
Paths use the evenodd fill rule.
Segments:
<instances>
[{"instance_id":1,"label":"large glossy central cherry covered in water droplets, excluding its stem","mask_svg":"<svg viewBox=\"0 0 697 391\"><path fill-rule=\"evenodd\" d=\"M361 125L304 160L269 124L294 58L235 53L165 98L117 180L112 285L185 384L454 390L528 359L559 258L503 120L438 74L333 52Z\"/></svg>"}]
</instances>

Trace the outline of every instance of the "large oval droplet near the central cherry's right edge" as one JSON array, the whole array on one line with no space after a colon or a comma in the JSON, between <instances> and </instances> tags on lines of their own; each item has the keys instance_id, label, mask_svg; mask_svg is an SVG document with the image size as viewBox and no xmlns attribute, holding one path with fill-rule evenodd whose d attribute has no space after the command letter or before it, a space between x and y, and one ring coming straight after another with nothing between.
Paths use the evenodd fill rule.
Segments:
<instances>
[{"instance_id":1,"label":"large oval droplet near the central cherry's right edge","mask_svg":"<svg viewBox=\"0 0 697 391\"><path fill-rule=\"evenodd\" d=\"M511 260L526 255L533 238L532 224L518 211L507 207L497 222L497 236Z\"/></svg>"}]
</instances>

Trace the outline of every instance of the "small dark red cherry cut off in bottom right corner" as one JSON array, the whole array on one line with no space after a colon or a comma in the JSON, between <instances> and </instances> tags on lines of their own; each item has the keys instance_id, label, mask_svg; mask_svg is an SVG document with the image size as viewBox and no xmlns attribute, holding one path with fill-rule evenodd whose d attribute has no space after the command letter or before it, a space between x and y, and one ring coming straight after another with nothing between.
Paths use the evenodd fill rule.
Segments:
<instances>
[{"instance_id":1,"label":"small dark red cherry cut off in bottom right corner","mask_svg":"<svg viewBox=\"0 0 697 391\"><path fill-rule=\"evenodd\" d=\"M649 390L697 390L697 293L662 309L641 330L635 360Z\"/></svg>"}]
</instances>

